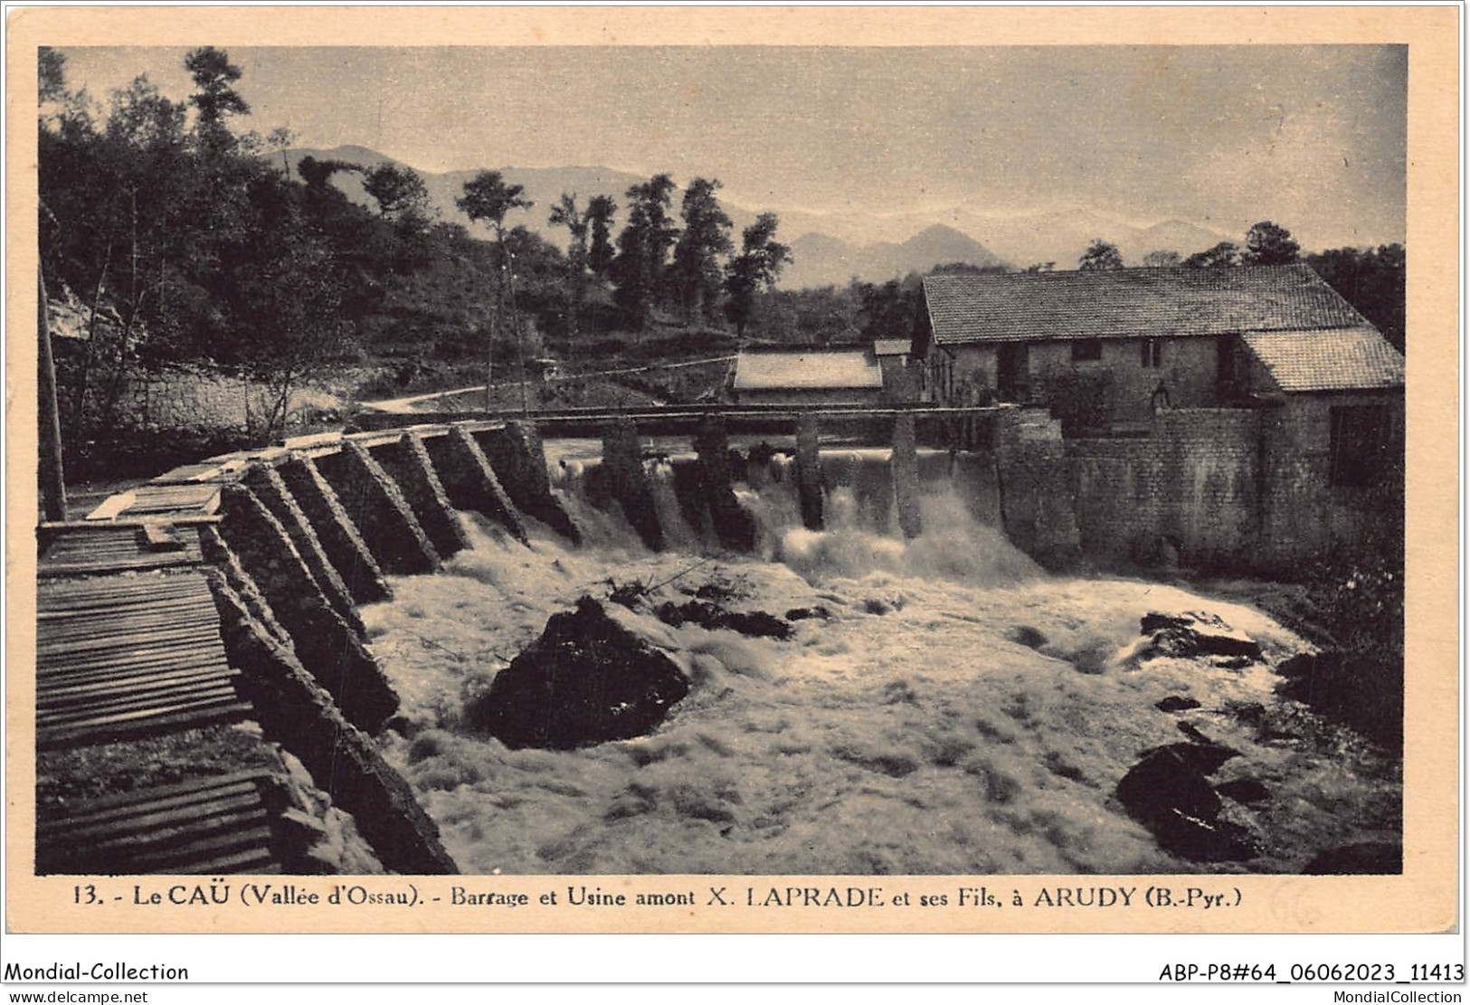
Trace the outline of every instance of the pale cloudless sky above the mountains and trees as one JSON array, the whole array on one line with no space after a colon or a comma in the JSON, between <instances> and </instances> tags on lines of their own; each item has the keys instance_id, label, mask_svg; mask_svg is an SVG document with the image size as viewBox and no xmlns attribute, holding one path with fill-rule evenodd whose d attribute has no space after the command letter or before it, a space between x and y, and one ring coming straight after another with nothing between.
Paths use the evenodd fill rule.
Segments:
<instances>
[{"instance_id":1,"label":"pale cloudless sky above the mountains and trees","mask_svg":"<svg viewBox=\"0 0 1470 1005\"><path fill-rule=\"evenodd\" d=\"M97 97L185 48L63 48ZM231 48L248 128L420 170L714 176L754 209L1083 207L1307 248L1404 239L1401 46Z\"/></svg>"}]
</instances>

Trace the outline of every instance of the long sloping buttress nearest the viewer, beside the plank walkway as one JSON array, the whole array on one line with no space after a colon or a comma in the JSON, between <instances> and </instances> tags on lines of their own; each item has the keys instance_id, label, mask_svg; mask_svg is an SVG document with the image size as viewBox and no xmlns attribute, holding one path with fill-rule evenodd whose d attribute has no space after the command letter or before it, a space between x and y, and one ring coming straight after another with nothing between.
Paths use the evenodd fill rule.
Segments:
<instances>
[{"instance_id":1,"label":"long sloping buttress nearest the viewer, beside the plank walkway","mask_svg":"<svg viewBox=\"0 0 1470 1005\"><path fill-rule=\"evenodd\" d=\"M225 652L241 671L241 691L256 707L266 739L300 758L316 786L353 814L384 865L404 876L457 873L440 843L440 829L403 776L369 736L344 720L295 654L262 629L226 576L207 574Z\"/></svg>"}]
</instances>

